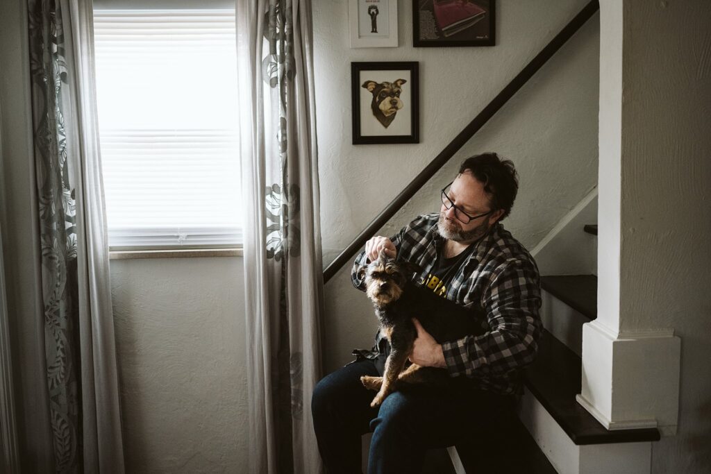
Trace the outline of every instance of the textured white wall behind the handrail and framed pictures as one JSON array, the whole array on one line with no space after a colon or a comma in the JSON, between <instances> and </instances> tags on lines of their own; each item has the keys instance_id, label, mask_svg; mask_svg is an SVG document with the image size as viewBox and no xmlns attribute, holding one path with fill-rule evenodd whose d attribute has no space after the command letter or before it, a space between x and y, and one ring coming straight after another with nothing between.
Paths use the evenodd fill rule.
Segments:
<instances>
[{"instance_id":1,"label":"textured white wall behind the handrail and framed pictures","mask_svg":"<svg viewBox=\"0 0 711 474\"><path fill-rule=\"evenodd\" d=\"M328 264L550 41L587 1L497 2L493 48L412 48L412 2L400 1L400 47L349 49L346 1L319 4L316 107L321 229ZM599 24L594 16L381 230L392 235L439 209L461 161L498 151L514 161L520 191L506 227L533 249L597 185ZM351 61L416 60L421 143L351 144ZM333 107L330 107L333 105ZM594 223L594 222L593 222ZM580 230L582 232L582 229ZM326 286L326 369L372 343L376 321L344 267Z\"/></svg>"}]
</instances>

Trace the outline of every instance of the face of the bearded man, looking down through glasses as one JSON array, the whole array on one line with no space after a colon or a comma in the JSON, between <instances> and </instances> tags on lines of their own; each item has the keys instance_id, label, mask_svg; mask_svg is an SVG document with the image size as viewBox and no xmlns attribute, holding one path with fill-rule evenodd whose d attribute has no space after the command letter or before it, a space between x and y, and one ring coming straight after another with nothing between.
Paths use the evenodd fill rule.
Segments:
<instances>
[{"instance_id":1,"label":"face of the bearded man, looking down through glasses","mask_svg":"<svg viewBox=\"0 0 711 474\"><path fill-rule=\"evenodd\" d=\"M451 188L449 188L447 196L456 207L471 216L491 211L491 203L484 191L483 183L478 181L469 171L456 177L454 183L451 184ZM439 209L437 230L445 239L471 243L485 235L502 214L503 210L496 210L491 214L464 224L454 215L454 207L447 209L442 204Z\"/></svg>"}]
</instances>

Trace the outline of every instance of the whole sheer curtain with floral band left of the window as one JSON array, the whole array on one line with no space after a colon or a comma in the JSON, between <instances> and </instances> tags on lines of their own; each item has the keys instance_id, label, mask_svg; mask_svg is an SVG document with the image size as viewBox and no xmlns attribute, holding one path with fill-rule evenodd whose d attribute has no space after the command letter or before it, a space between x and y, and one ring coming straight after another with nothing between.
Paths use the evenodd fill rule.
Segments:
<instances>
[{"instance_id":1,"label":"whole sheer curtain with floral band left of the window","mask_svg":"<svg viewBox=\"0 0 711 474\"><path fill-rule=\"evenodd\" d=\"M28 0L46 399L58 473L123 473L91 0Z\"/></svg>"}]
</instances>

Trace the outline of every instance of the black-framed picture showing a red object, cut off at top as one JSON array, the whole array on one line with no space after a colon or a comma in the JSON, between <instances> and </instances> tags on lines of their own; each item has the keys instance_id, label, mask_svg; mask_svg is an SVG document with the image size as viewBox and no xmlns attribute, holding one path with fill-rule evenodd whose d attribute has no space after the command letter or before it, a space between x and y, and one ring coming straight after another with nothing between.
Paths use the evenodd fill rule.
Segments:
<instances>
[{"instance_id":1,"label":"black-framed picture showing a red object, cut off at top","mask_svg":"<svg viewBox=\"0 0 711 474\"><path fill-rule=\"evenodd\" d=\"M495 0L412 0L413 44L493 46Z\"/></svg>"}]
</instances>

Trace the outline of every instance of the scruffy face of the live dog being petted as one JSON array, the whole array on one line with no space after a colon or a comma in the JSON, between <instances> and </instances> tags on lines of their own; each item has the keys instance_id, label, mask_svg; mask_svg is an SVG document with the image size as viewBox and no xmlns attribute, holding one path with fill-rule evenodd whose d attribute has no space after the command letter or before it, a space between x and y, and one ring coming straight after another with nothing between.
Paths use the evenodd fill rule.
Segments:
<instances>
[{"instance_id":1,"label":"scruffy face of the live dog being petted","mask_svg":"<svg viewBox=\"0 0 711 474\"><path fill-rule=\"evenodd\" d=\"M365 294L378 306L397 301L410 274L416 270L417 266L398 262L380 252L378 259L360 269L360 276L365 276Z\"/></svg>"}]
</instances>

